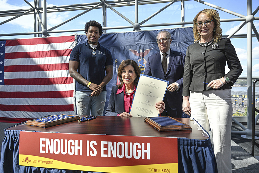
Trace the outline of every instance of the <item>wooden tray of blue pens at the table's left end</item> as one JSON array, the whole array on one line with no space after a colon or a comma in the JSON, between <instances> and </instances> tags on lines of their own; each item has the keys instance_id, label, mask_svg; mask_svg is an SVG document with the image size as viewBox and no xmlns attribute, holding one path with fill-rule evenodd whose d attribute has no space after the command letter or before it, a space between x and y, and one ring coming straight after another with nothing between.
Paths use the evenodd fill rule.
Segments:
<instances>
[{"instance_id":1,"label":"wooden tray of blue pens at the table's left end","mask_svg":"<svg viewBox=\"0 0 259 173\"><path fill-rule=\"evenodd\" d=\"M51 127L58 124L68 123L70 121L76 121L78 119L80 119L80 117L77 115L64 115L64 114L49 115L49 116L44 116L42 118L29 120L25 124L45 128L45 127Z\"/></svg>"}]
</instances>

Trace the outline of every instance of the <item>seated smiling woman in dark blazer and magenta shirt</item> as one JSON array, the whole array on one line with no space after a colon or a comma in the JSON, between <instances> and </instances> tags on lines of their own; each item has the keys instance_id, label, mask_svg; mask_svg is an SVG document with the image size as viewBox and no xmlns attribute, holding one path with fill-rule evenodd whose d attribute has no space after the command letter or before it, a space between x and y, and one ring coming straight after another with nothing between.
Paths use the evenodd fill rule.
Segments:
<instances>
[{"instance_id":1,"label":"seated smiling woman in dark blazer and magenta shirt","mask_svg":"<svg viewBox=\"0 0 259 173\"><path fill-rule=\"evenodd\" d=\"M140 73L138 64L135 61L127 59L121 62L118 68L118 77L121 83L112 87L105 116L132 116L129 111ZM155 107L161 114L165 109L165 103L159 101Z\"/></svg>"}]
</instances>

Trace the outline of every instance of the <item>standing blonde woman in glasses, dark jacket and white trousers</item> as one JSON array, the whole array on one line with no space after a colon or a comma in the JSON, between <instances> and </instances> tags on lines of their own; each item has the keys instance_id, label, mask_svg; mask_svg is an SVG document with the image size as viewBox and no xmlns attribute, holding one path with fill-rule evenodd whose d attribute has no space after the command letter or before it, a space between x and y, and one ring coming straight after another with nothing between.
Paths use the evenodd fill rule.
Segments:
<instances>
[{"instance_id":1,"label":"standing blonde woman in glasses, dark jacket and white trousers","mask_svg":"<svg viewBox=\"0 0 259 173\"><path fill-rule=\"evenodd\" d=\"M231 173L230 89L243 69L230 39L221 37L216 10L202 10L193 22L195 43L186 51L182 110L206 131L212 130L218 172Z\"/></svg>"}]
</instances>

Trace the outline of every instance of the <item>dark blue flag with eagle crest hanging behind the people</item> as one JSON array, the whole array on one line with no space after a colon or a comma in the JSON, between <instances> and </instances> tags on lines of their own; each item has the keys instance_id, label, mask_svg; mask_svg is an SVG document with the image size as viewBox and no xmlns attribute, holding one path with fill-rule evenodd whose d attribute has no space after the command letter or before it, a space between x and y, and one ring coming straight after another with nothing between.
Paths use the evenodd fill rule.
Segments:
<instances>
[{"instance_id":1,"label":"dark blue flag with eagle crest hanging behind the people","mask_svg":"<svg viewBox=\"0 0 259 173\"><path fill-rule=\"evenodd\" d=\"M172 50L185 53L187 47L193 44L192 27L163 30L171 33ZM104 110L106 110L108 106L111 87L116 85L117 82L116 68L119 67L123 60L132 59L140 65L141 72L144 73L145 59L152 54L159 52L156 36L160 31L162 30L105 33L100 37L100 44L108 48L113 55L113 79L106 85L107 97ZM85 35L77 35L77 44L82 44L86 41L87 37Z\"/></svg>"}]
</instances>

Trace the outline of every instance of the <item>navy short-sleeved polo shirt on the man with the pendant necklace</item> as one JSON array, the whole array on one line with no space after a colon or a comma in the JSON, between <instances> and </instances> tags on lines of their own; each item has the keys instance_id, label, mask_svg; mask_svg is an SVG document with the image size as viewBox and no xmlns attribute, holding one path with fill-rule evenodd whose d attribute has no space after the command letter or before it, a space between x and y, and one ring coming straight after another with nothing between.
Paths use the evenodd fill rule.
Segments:
<instances>
[{"instance_id":1,"label":"navy short-sleeved polo shirt on the man with the pendant necklace","mask_svg":"<svg viewBox=\"0 0 259 173\"><path fill-rule=\"evenodd\" d=\"M78 73L86 80L99 85L105 76L105 66L113 65L113 57L110 50L100 45L95 49L96 54L88 42L75 46L70 54L69 61L79 62ZM92 91L86 85L76 82L76 91ZM106 91L106 86L102 91Z\"/></svg>"}]
</instances>

